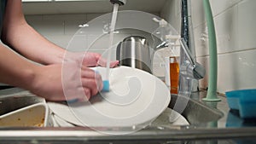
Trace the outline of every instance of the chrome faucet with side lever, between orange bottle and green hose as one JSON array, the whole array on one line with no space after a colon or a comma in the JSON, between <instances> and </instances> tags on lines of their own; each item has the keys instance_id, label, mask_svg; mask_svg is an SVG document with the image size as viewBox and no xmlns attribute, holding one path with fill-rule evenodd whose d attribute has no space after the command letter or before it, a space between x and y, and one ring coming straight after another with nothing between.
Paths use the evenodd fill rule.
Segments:
<instances>
[{"instance_id":1,"label":"chrome faucet with side lever, between orange bottle and green hose","mask_svg":"<svg viewBox=\"0 0 256 144\"><path fill-rule=\"evenodd\" d=\"M180 50L180 76L179 91L187 93L189 91L198 91L198 80L203 78L206 70L195 59L194 32L191 17L191 0L183 0L182 9L182 32L181 32L181 50Z\"/></svg>"}]
</instances>

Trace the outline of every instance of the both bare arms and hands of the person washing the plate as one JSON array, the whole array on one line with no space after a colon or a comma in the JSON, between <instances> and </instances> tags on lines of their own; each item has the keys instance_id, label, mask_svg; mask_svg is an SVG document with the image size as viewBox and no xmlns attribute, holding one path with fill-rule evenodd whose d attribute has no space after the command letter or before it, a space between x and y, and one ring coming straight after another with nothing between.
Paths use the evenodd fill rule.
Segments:
<instances>
[{"instance_id":1,"label":"both bare arms and hands of the person washing the plate","mask_svg":"<svg viewBox=\"0 0 256 144\"><path fill-rule=\"evenodd\" d=\"M52 101L79 98L90 99L102 89L102 78L87 66L104 66L96 53L70 54L63 69L64 49L50 43L26 23L20 0L9 0L4 15L3 43L30 60L47 66L37 66L0 44L0 82L10 84ZM65 58L66 59L66 58ZM83 66L79 65L82 62ZM116 66L118 61L113 61ZM66 75L63 75L63 71ZM75 77L74 77L75 76ZM74 83L75 82L75 83ZM64 95L62 85L70 95ZM80 90L80 95L77 91Z\"/></svg>"}]
</instances>

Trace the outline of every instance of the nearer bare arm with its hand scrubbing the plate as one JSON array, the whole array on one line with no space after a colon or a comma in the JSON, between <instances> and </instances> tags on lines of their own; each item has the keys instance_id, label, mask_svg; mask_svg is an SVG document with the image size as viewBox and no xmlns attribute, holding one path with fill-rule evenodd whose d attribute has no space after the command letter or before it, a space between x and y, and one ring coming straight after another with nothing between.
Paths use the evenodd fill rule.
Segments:
<instances>
[{"instance_id":1,"label":"nearer bare arm with its hand scrubbing the plate","mask_svg":"<svg viewBox=\"0 0 256 144\"><path fill-rule=\"evenodd\" d=\"M30 90L50 101L88 100L102 89L101 76L86 66L75 62L67 62L64 70L61 64L38 66L2 44L0 82ZM62 84L67 85L69 95L64 95Z\"/></svg>"}]
</instances>

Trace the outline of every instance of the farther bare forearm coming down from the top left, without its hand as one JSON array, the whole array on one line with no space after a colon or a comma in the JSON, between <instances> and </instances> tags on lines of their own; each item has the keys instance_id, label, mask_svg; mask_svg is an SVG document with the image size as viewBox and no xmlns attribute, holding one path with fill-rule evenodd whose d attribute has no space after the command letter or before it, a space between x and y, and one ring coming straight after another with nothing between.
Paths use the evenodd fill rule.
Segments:
<instances>
[{"instance_id":1,"label":"farther bare forearm coming down from the top left, without its hand","mask_svg":"<svg viewBox=\"0 0 256 144\"><path fill-rule=\"evenodd\" d=\"M3 43L26 58L46 65L61 63L65 52L26 23L20 0L9 0L7 3L2 39Z\"/></svg>"}]
</instances>

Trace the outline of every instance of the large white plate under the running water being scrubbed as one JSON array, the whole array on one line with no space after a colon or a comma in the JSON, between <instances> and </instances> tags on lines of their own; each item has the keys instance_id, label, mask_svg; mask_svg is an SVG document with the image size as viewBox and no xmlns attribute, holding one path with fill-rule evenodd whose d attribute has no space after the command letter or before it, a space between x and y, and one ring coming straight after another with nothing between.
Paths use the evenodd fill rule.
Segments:
<instances>
[{"instance_id":1,"label":"large white plate under the running water being scrubbed","mask_svg":"<svg viewBox=\"0 0 256 144\"><path fill-rule=\"evenodd\" d=\"M96 67L102 79L106 68ZM119 66L110 70L110 91L101 92L90 101L61 104L49 103L56 115L72 124L89 127L130 127L147 124L157 118L171 101L169 89L159 78L136 68ZM71 113L75 118L70 118ZM74 120L76 119L76 120Z\"/></svg>"}]
</instances>

